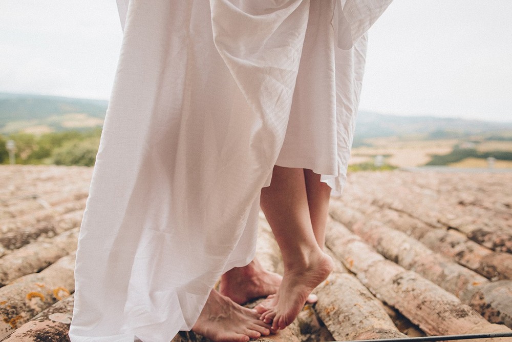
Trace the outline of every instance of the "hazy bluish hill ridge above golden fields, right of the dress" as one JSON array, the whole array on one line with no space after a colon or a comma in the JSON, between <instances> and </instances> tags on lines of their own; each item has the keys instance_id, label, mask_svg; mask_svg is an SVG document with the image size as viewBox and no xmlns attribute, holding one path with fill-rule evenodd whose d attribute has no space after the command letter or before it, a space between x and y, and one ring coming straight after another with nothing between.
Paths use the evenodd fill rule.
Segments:
<instances>
[{"instance_id":1,"label":"hazy bluish hill ridge above golden fields, right of the dress","mask_svg":"<svg viewBox=\"0 0 512 342\"><path fill-rule=\"evenodd\" d=\"M360 111L357 117L354 145L364 144L365 139L375 137L449 139L503 134L512 137L512 122L498 123L435 116L398 116Z\"/></svg>"}]
</instances>

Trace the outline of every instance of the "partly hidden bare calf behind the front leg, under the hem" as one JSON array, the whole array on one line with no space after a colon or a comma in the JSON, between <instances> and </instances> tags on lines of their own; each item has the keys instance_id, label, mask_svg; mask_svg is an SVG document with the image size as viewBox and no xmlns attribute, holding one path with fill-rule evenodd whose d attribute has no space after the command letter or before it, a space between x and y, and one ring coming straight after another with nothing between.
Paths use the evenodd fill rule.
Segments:
<instances>
[{"instance_id":1,"label":"partly hidden bare calf behind the front leg, under the hem","mask_svg":"<svg viewBox=\"0 0 512 342\"><path fill-rule=\"evenodd\" d=\"M309 215L318 246L323 250L325 246L325 229L329 215L329 198L331 187L320 181L320 175L311 170L304 169L306 193L308 195Z\"/></svg>"}]
</instances>

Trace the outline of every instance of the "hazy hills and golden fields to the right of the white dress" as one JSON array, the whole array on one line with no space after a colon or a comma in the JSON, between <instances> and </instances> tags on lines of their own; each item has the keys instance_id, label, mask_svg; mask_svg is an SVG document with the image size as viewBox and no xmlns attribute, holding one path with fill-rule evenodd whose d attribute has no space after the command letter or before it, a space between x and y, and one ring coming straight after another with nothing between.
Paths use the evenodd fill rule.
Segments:
<instances>
[{"instance_id":1,"label":"hazy hills and golden fields to the right of the white dress","mask_svg":"<svg viewBox=\"0 0 512 342\"><path fill-rule=\"evenodd\" d=\"M351 168L374 169L376 156L389 167L512 169L512 123L360 112Z\"/></svg>"}]
</instances>

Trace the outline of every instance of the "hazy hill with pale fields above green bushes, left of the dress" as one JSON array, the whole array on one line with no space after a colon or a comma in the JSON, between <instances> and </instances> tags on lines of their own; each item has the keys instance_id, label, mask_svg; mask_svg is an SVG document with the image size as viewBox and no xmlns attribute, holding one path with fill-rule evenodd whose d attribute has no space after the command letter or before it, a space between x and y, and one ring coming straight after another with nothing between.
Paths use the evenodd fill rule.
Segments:
<instances>
[{"instance_id":1,"label":"hazy hill with pale fields above green bushes, left of the dress","mask_svg":"<svg viewBox=\"0 0 512 342\"><path fill-rule=\"evenodd\" d=\"M0 93L0 133L46 133L101 126L108 102Z\"/></svg>"}]
</instances>

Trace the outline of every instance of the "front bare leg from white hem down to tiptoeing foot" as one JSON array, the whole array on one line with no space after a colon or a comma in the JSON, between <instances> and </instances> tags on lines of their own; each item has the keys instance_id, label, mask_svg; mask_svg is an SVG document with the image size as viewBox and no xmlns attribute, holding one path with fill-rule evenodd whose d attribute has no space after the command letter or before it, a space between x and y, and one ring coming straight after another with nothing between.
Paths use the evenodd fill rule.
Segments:
<instances>
[{"instance_id":1,"label":"front bare leg from white hem down to tiptoeing foot","mask_svg":"<svg viewBox=\"0 0 512 342\"><path fill-rule=\"evenodd\" d=\"M318 246L309 214L303 169L275 166L261 207L283 254L282 284L271 307L260 306L261 319L283 329L302 310L309 293L332 270L332 260Z\"/></svg>"}]
</instances>

